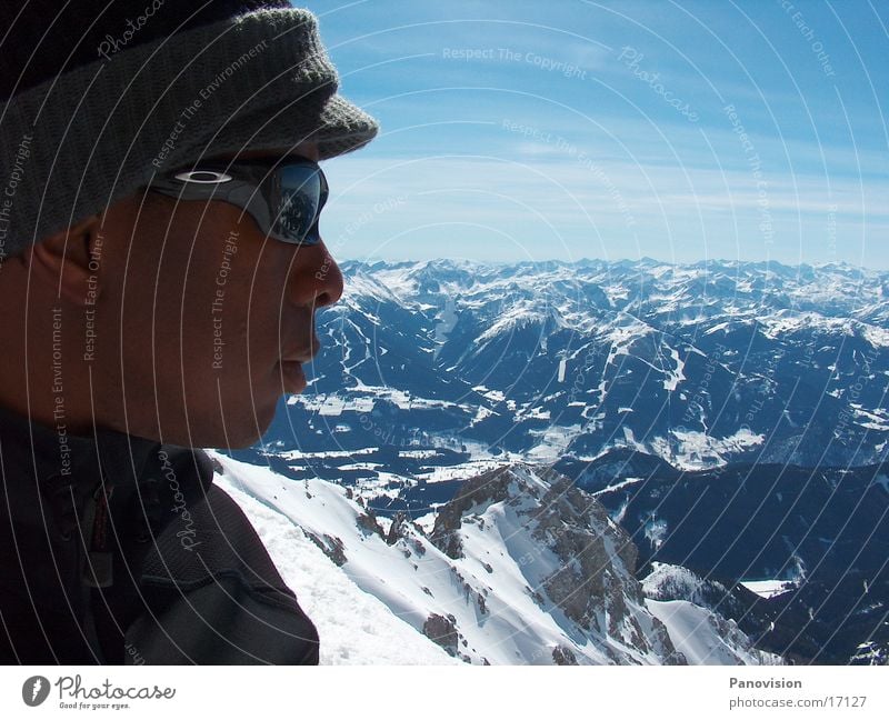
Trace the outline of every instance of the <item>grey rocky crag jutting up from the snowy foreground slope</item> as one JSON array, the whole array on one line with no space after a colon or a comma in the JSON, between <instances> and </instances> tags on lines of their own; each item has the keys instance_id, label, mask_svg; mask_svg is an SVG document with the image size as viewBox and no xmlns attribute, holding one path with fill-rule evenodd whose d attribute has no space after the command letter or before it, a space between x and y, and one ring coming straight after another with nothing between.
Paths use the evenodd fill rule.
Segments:
<instances>
[{"instance_id":1,"label":"grey rocky crag jutting up from the snowy foreground slope","mask_svg":"<svg viewBox=\"0 0 889 720\"><path fill-rule=\"evenodd\" d=\"M569 637L582 638L573 648L551 649L552 662L576 663L577 656L589 662L589 649L585 656L578 647L587 642L607 662L685 662L646 610L633 574L636 546L592 496L563 476L516 463L468 480L440 509L431 540L449 558L472 560L480 533L506 541L526 593L559 617Z\"/></svg>"}]
</instances>

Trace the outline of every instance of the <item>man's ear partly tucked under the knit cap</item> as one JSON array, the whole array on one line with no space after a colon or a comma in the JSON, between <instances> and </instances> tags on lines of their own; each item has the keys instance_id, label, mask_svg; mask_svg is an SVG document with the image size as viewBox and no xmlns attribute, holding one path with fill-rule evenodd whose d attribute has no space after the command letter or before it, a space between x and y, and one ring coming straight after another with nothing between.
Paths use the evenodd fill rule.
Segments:
<instances>
[{"instance_id":1,"label":"man's ear partly tucked under the knit cap","mask_svg":"<svg viewBox=\"0 0 889 720\"><path fill-rule=\"evenodd\" d=\"M97 259L93 258L99 250L97 240L101 243L99 224L99 216L90 216L31 248L30 264L37 279L77 306L94 304L101 291L101 283L97 281Z\"/></svg>"}]
</instances>

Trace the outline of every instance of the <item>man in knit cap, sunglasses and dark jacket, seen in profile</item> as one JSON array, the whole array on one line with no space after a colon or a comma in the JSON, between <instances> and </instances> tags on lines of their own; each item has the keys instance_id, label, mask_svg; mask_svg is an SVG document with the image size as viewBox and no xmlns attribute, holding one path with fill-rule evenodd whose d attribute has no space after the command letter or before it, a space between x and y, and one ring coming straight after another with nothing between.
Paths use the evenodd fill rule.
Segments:
<instances>
[{"instance_id":1,"label":"man in knit cap, sunglasses and dark jacket, seen in profile","mask_svg":"<svg viewBox=\"0 0 889 720\"><path fill-rule=\"evenodd\" d=\"M377 133L282 0L0 6L0 663L317 663L202 447L253 443Z\"/></svg>"}]
</instances>

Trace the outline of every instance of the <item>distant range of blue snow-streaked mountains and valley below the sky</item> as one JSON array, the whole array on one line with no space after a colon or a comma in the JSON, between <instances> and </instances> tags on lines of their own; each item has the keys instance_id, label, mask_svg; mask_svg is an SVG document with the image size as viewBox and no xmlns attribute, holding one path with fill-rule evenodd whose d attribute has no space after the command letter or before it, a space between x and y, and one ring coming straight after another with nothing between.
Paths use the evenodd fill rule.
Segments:
<instances>
[{"instance_id":1,"label":"distant range of blue snow-streaked mountains and valley below the sky","mask_svg":"<svg viewBox=\"0 0 889 720\"><path fill-rule=\"evenodd\" d=\"M317 460L312 474L417 477L416 458L329 454L387 446L437 449L427 469L619 447L680 469L889 452L889 273L652 260L342 269L310 387L268 436Z\"/></svg>"}]
</instances>

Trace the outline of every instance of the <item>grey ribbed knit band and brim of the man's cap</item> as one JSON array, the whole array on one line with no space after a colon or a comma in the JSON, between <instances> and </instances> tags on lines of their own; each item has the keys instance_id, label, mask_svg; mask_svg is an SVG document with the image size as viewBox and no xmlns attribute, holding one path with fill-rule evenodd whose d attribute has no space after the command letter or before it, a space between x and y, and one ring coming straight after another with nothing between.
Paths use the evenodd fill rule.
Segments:
<instances>
[{"instance_id":1,"label":"grey ribbed knit band and brim of the man's cap","mask_svg":"<svg viewBox=\"0 0 889 720\"><path fill-rule=\"evenodd\" d=\"M124 36L126 38L126 36ZM308 10L266 9L104 56L0 104L0 262L203 157L369 142ZM99 52L102 47L99 48Z\"/></svg>"}]
</instances>

